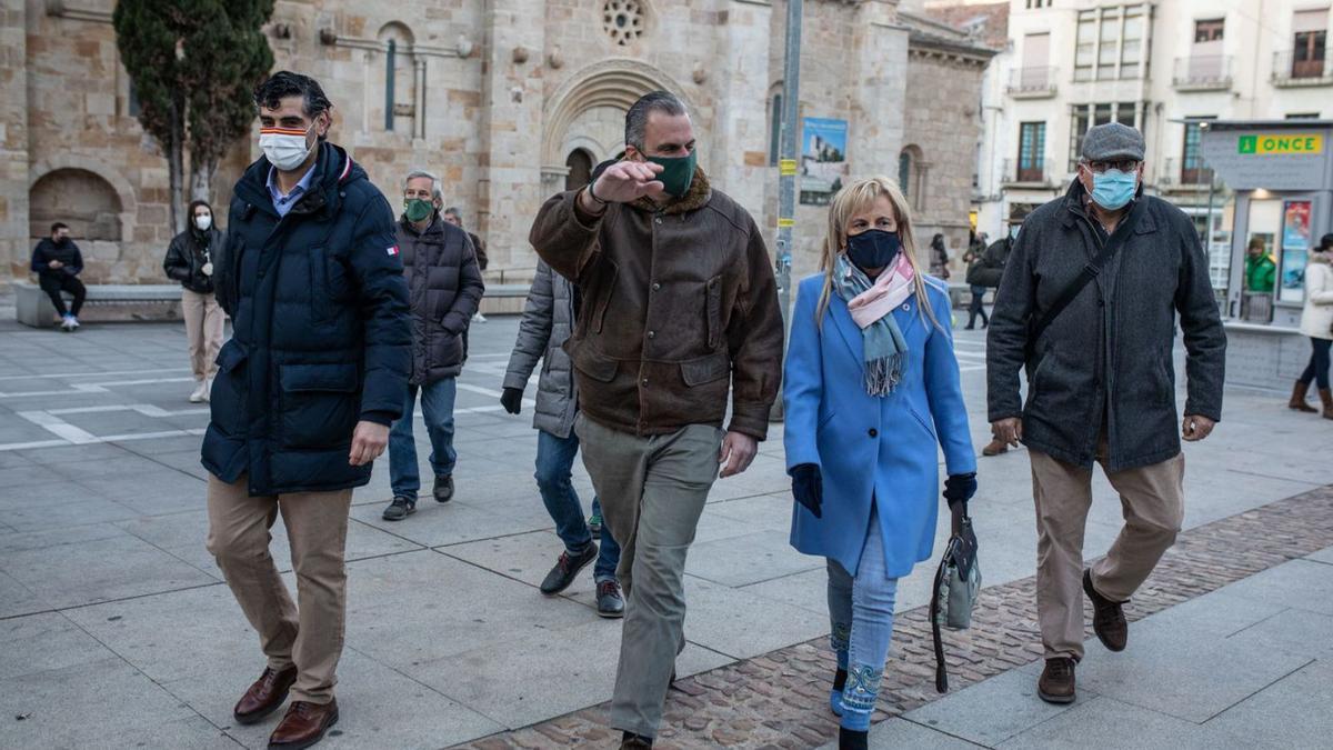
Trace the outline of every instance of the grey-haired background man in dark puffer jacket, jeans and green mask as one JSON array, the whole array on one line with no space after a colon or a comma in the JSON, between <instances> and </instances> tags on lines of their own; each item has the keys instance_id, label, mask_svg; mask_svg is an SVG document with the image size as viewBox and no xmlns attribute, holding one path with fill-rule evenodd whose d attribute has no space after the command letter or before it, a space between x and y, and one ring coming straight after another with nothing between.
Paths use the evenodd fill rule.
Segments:
<instances>
[{"instance_id":1,"label":"grey-haired background man in dark puffer jacket, jeans and green mask","mask_svg":"<svg viewBox=\"0 0 1333 750\"><path fill-rule=\"evenodd\" d=\"M468 234L440 218L444 192L431 172L412 172L403 184L403 218L399 250L412 299L412 380L407 387L403 419L389 435L389 475L393 502L384 520L401 520L416 512L421 475L412 412L421 391L421 415L431 435L431 468L436 502L453 498L453 399L457 376L467 356L463 336L481 304L485 286Z\"/></svg>"}]
</instances>

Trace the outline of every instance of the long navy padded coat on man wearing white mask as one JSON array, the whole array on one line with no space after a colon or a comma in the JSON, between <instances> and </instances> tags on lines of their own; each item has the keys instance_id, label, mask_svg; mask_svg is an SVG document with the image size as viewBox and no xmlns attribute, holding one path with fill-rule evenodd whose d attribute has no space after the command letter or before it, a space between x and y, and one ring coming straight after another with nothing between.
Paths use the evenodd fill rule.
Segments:
<instances>
[{"instance_id":1,"label":"long navy padded coat on man wearing white mask","mask_svg":"<svg viewBox=\"0 0 1333 750\"><path fill-rule=\"evenodd\" d=\"M217 355L203 463L252 495L345 490L359 420L403 412L411 368L408 292L388 202L324 143L311 191L279 219L269 163L236 183L217 298L235 323Z\"/></svg>"}]
</instances>

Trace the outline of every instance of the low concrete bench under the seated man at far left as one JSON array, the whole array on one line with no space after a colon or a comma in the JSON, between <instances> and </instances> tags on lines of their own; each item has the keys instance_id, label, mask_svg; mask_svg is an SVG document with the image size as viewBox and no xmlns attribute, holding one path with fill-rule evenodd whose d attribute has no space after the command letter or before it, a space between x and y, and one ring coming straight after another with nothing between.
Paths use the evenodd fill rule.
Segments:
<instances>
[{"instance_id":1,"label":"low concrete bench under the seated man at far left","mask_svg":"<svg viewBox=\"0 0 1333 750\"><path fill-rule=\"evenodd\" d=\"M51 299L32 282L13 283L19 323L52 328L60 319ZM68 292L65 303L73 299ZM180 284L88 284L88 298L80 322L112 323L136 320L180 320Z\"/></svg>"}]
</instances>

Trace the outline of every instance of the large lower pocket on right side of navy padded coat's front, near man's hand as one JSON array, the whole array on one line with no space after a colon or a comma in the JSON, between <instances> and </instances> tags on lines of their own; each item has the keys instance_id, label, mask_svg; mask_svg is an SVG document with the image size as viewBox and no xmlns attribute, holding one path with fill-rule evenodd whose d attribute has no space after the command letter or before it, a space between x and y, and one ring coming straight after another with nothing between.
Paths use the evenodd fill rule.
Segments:
<instances>
[{"instance_id":1,"label":"large lower pocket on right side of navy padded coat's front, near man's hand","mask_svg":"<svg viewBox=\"0 0 1333 750\"><path fill-rule=\"evenodd\" d=\"M279 435L287 448L329 448L352 440L360 370L352 363L283 364Z\"/></svg>"}]
</instances>

